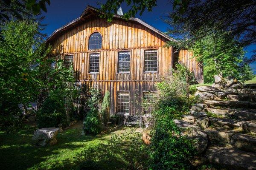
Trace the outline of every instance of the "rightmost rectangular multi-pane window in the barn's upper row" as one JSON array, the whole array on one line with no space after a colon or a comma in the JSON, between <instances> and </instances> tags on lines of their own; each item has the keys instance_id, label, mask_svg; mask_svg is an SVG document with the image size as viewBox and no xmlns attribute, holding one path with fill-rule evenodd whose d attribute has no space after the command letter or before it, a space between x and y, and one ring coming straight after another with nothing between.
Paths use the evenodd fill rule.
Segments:
<instances>
[{"instance_id":1,"label":"rightmost rectangular multi-pane window in the barn's upper row","mask_svg":"<svg viewBox=\"0 0 256 170\"><path fill-rule=\"evenodd\" d=\"M144 51L144 72L157 71L157 50Z\"/></svg>"}]
</instances>

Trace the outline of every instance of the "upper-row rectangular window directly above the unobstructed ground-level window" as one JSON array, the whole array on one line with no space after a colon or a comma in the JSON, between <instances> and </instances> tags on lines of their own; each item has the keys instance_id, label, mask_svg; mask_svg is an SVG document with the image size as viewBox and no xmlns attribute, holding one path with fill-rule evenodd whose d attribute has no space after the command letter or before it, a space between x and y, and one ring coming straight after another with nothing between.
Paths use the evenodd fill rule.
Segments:
<instances>
[{"instance_id":1,"label":"upper-row rectangular window directly above the unobstructed ground-level window","mask_svg":"<svg viewBox=\"0 0 256 170\"><path fill-rule=\"evenodd\" d=\"M118 53L118 72L130 71L130 51Z\"/></svg>"}]
</instances>

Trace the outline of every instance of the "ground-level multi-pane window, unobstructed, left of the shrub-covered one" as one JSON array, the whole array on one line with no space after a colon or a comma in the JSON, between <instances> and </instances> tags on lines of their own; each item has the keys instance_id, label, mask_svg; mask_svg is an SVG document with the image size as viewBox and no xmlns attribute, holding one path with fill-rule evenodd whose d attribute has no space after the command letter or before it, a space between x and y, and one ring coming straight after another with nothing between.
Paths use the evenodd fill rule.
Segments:
<instances>
[{"instance_id":1,"label":"ground-level multi-pane window, unobstructed, left of the shrub-covered one","mask_svg":"<svg viewBox=\"0 0 256 170\"><path fill-rule=\"evenodd\" d=\"M129 92L117 93L117 113L129 114Z\"/></svg>"}]
</instances>

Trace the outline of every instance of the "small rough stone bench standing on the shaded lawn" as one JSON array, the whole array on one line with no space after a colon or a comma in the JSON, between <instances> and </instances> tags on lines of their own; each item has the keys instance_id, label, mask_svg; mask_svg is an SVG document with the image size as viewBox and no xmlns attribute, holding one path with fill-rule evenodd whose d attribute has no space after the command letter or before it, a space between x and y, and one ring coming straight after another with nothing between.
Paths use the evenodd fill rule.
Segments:
<instances>
[{"instance_id":1,"label":"small rough stone bench standing on the shaded lawn","mask_svg":"<svg viewBox=\"0 0 256 170\"><path fill-rule=\"evenodd\" d=\"M40 146L56 144L58 130L59 128L55 127L38 129L35 131L32 139L37 141L37 144Z\"/></svg>"}]
</instances>

